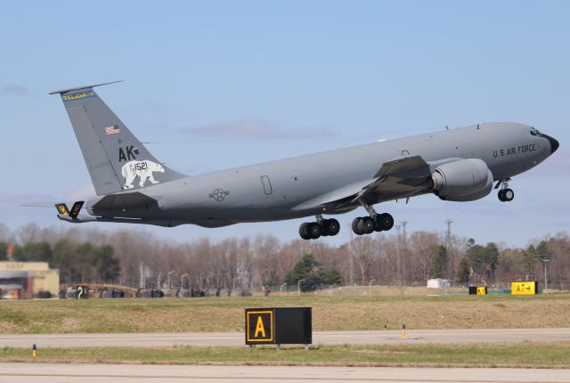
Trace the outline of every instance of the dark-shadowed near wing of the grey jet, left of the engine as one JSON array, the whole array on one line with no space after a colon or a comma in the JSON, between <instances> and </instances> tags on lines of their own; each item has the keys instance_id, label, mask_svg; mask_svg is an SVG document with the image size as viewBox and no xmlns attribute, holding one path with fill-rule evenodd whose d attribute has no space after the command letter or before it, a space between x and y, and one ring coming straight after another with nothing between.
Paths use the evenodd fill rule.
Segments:
<instances>
[{"instance_id":1,"label":"dark-shadowed near wing of the grey jet, left of the engine","mask_svg":"<svg viewBox=\"0 0 570 383\"><path fill-rule=\"evenodd\" d=\"M348 184L313 200L298 205L296 210L322 207L325 210L348 208L356 200L370 204L403 199L427 192L431 186L431 170L420 156L393 159L382 164L370 180Z\"/></svg>"}]
</instances>

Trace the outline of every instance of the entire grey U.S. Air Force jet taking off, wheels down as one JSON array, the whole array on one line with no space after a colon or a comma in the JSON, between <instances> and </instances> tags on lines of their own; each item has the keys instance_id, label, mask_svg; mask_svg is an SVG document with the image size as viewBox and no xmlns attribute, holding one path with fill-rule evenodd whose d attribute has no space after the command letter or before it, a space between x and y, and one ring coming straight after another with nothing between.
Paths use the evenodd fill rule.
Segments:
<instances>
[{"instance_id":1,"label":"entire grey U.S. Air Force jet taking off, wheels down","mask_svg":"<svg viewBox=\"0 0 570 383\"><path fill-rule=\"evenodd\" d=\"M111 84L111 83L108 83ZM513 200L510 178L558 149L558 141L532 126L486 123L235 167L183 175L148 151L94 92L95 86L60 94L94 183L97 197L69 209L71 223L120 222L222 227L314 216L301 224L305 240L337 235L338 215L363 207L352 223L358 235L390 230L394 218L374 205L433 193L442 200L471 201L499 189Z\"/></svg>"}]
</instances>

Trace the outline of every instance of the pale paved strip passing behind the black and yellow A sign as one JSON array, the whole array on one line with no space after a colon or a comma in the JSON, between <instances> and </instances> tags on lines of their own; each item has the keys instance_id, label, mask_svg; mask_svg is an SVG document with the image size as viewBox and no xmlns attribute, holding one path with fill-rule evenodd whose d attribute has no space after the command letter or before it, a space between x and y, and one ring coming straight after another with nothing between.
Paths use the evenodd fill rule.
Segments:
<instances>
[{"instance_id":1,"label":"pale paved strip passing behind the black and yellow A sign","mask_svg":"<svg viewBox=\"0 0 570 383\"><path fill-rule=\"evenodd\" d=\"M314 345L425 345L429 343L570 341L570 329L314 331ZM131 334L0 334L0 347L244 346L241 332Z\"/></svg>"}]
</instances>

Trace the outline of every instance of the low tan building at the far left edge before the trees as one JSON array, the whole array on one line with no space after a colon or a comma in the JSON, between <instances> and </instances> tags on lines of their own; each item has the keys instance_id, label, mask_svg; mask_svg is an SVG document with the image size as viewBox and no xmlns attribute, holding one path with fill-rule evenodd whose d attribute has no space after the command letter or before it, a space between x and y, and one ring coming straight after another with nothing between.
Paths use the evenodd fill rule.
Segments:
<instances>
[{"instance_id":1,"label":"low tan building at the far left edge before the trees","mask_svg":"<svg viewBox=\"0 0 570 383\"><path fill-rule=\"evenodd\" d=\"M47 262L0 262L0 299L58 297L59 288L60 271Z\"/></svg>"}]
</instances>

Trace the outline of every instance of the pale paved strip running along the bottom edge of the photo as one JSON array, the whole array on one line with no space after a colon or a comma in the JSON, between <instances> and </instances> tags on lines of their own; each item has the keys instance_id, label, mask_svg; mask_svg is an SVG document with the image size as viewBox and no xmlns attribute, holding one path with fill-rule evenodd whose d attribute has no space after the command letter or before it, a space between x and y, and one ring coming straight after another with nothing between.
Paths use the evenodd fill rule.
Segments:
<instances>
[{"instance_id":1,"label":"pale paved strip running along the bottom edge of the photo","mask_svg":"<svg viewBox=\"0 0 570 383\"><path fill-rule=\"evenodd\" d=\"M558 383L570 381L570 370L0 363L0 383L37 380L44 383L77 381L85 383L110 381Z\"/></svg>"}]
</instances>

